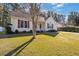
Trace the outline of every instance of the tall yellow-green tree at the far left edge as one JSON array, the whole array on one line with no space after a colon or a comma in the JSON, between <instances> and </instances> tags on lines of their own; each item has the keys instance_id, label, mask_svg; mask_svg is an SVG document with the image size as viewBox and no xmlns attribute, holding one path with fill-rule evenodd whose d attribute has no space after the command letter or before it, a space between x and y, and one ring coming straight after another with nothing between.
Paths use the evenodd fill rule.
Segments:
<instances>
[{"instance_id":1,"label":"tall yellow-green tree at the far left edge","mask_svg":"<svg viewBox=\"0 0 79 59\"><path fill-rule=\"evenodd\" d=\"M1 4L1 6L2 6L2 12L0 10L1 26L6 27L8 26L11 20L9 11L11 10L11 7L13 5L11 3L4 3L4 4Z\"/></svg>"}]
</instances>

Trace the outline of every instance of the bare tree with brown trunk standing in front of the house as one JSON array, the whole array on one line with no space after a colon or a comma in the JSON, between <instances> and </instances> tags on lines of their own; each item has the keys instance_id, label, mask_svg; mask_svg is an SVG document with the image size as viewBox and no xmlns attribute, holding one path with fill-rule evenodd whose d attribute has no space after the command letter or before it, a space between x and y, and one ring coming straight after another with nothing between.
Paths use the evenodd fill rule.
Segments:
<instances>
[{"instance_id":1,"label":"bare tree with brown trunk standing in front of the house","mask_svg":"<svg viewBox=\"0 0 79 59\"><path fill-rule=\"evenodd\" d=\"M37 20L38 20L38 15L40 11L40 4L37 3L31 3L30 4L30 15L32 19L32 25L33 25L33 38L36 36L36 27L37 27Z\"/></svg>"}]
</instances>

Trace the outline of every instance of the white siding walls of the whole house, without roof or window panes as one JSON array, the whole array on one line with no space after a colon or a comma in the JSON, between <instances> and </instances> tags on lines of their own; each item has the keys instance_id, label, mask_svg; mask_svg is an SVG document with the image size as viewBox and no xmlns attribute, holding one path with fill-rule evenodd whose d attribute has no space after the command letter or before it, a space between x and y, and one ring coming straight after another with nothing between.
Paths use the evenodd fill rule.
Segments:
<instances>
[{"instance_id":1,"label":"white siding walls of the whole house, without roof or window panes","mask_svg":"<svg viewBox=\"0 0 79 59\"><path fill-rule=\"evenodd\" d=\"M44 19L44 17L39 17L38 18L38 23L37 23L37 31L49 31L49 30L57 30L59 23L57 23L53 17L49 17L48 19ZM23 24L23 27L20 27L20 21L23 21L25 23L25 21L28 22L27 27L25 27L25 24ZM30 31L32 30L32 21L28 18L23 18L23 17L15 17L12 16L11 17L11 29L13 32L15 32L16 30L18 30L19 32L22 31ZM49 24L49 27L48 25ZM41 25L41 29L40 29L40 25Z\"/></svg>"}]
</instances>

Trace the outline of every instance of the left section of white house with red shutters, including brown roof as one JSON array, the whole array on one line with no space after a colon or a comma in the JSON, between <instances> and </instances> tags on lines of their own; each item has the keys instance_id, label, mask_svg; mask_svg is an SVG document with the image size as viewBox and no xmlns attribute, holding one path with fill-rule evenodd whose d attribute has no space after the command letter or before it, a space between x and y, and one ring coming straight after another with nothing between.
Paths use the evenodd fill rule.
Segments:
<instances>
[{"instance_id":1,"label":"left section of white house with red shutters, including brown roof","mask_svg":"<svg viewBox=\"0 0 79 59\"><path fill-rule=\"evenodd\" d=\"M10 27L13 32L16 30L19 32L32 30L31 19L27 14L23 14L20 11L11 11L10 15L12 24Z\"/></svg>"}]
</instances>

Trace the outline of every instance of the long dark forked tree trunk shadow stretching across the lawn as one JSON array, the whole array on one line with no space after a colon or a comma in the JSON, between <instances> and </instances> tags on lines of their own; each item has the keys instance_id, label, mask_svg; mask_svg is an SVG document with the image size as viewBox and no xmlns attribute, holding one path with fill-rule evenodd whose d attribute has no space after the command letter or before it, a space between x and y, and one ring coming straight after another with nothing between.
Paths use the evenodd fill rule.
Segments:
<instances>
[{"instance_id":1,"label":"long dark forked tree trunk shadow stretching across the lawn","mask_svg":"<svg viewBox=\"0 0 79 59\"><path fill-rule=\"evenodd\" d=\"M5 56L11 56L14 55L16 56L17 54L19 54L25 47L27 47L32 41L34 40L34 38L32 37L29 41L21 44L20 46L18 46L17 48L15 48L14 50L8 52L7 54L5 54Z\"/></svg>"}]
</instances>

